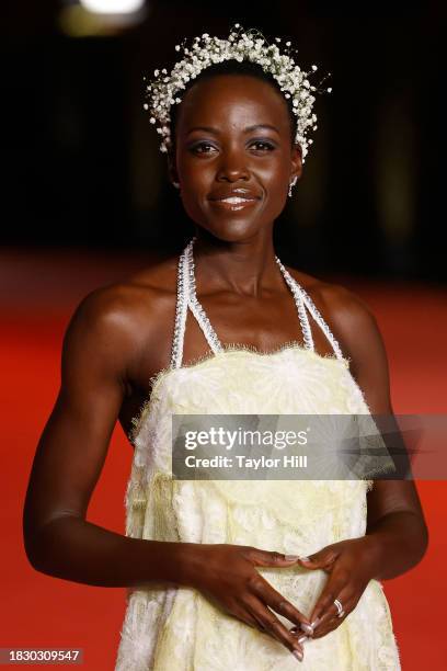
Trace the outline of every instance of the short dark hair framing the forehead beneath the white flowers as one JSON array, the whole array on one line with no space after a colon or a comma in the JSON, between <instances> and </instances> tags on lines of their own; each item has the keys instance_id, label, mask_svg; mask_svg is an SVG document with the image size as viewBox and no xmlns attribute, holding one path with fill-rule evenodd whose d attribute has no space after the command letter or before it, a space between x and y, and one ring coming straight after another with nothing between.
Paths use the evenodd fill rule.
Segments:
<instances>
[{"instance_id":1,"label":"short dark hair framing the forehead beneath the white flowers","mask_svg":"<svg viewBox=\"0 0 447 671\"><path fill-rule=\"evenodd\" d=\"M261 79L262 81L266 81L271 86L273 86L280 95L283 95L284 101L287 104L287 109L289 112L290 120L290 140L291 144L295 144L295 137L297 133L297 117L294 113L294 107L291 105L291 98L287 99L284 95L284 92L280 90L280 87L276 79L270 72L266 72L261 65L257 62L252 62L251 60L236 60L231 58L229 60L224 60L222 62L215 62L211 66L205 68L197 75L195 79L190 79L185 86L185 89L181 91L182 98L185 95L186 91L191 89L197 81L202 81L203 79L210 79L211 77L217 77L219 75L247 75L250 77L255 77L256 79ZM180 93L179 93L180 94ZM177 121L177 110L181 103L174 104L171 107L171 138L172 138L172 147L175 146L175 128Z\"/></svg>"}]
</instances>

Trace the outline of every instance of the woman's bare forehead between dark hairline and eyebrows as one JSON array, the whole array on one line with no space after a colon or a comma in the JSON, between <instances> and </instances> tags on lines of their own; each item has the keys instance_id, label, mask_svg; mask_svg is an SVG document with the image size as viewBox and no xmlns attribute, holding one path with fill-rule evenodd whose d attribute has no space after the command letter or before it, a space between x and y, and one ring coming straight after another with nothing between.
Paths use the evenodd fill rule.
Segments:
<instances>
[{"instance_id":1,"label":"woman's bare forehead between dark hairline and eyebrows","mask_svg":"<svg viewBox=\"0 0 447 671\"><path fill-rule=\"evenodd\" d=\"M288 133L287 103L271 83L247 75L205 78L186 92L179 115L179 130L195 125L245 127L273 124Z\"/></svg>"}]
</instances>

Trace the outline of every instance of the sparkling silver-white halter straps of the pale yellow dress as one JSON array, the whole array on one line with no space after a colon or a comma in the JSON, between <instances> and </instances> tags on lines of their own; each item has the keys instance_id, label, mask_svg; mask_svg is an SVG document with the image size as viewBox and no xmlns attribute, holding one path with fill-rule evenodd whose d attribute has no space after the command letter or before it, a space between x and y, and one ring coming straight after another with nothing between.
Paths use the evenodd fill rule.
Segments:
<instances>
[{"instance_id":1,"label":"sparkling silver-white halter straps of the pale yellow dress","mask_svg":"<svg viewBox=\"0 0 447 671\"><path fill-rule=\"evenodd\" d=\"M176 295L176 309L175 309L175 325L174 325L174 338L172 342L172 354L171 354L171 368L180 368L182 366L183 359L183 343L185 337L185 328L186 328L186 315L187 308L191 309L194 317L196 318L198 326L200 327L204 336L211 349L211 351L217 354L218 352L224 352L225 348L220 343L216 331L214 330L204 308L197 299L196 295L196 284L195 284L195 274L194 274L194 257L193 257L193 246L196 238L194 237L188 244L183 250L182 254L179 259L179 274L177 274L177 295ZM310 296L305 292L305 289L298 284L296 280L290 275L290 273L285 269L283 263L279 261L277 257L275 257L276 263L279 266L279 270L284 276L284 280L287 283L287 286L290 288L291 294L295 299L295 305L297 306L299 322L301 325L305 349L311 350L314 352L312 332L309 325L309 318L306 311L306 307L309 312L312 315L313 319L322 329L324 336L328 338L329 342L334 350L336 359L344 359L342 351L321 314L314 306Z\"/></svg>"}]
</instances>

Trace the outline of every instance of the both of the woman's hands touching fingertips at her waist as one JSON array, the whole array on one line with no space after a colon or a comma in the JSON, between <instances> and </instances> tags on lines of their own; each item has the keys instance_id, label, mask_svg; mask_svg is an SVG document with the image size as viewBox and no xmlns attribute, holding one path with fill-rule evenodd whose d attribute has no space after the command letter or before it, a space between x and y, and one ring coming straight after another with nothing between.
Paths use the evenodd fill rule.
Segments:
<instances>
[{"instance_id":1,"label":"both of the woman's hands touching fingertips at her waist","mask_svg":"<svg viewBox=\"0 0 447 671\"><path fill-rule=\"evenodd\" d=\"M197 588L228 614L284 644L297 659L303 642L335 629L355 609L369 580L376 576L378 553L374 536L341 541L309 557L296 557L251 546L186 544L184 583ZM183 555L185 556L185 555ZM256 570L300 564L308 570L322 569L329 579L310 617L277 592ZM334 603L339 600L339 610ZM286 627L275 614L293 623Z\"/></svg>"}]
</instances>

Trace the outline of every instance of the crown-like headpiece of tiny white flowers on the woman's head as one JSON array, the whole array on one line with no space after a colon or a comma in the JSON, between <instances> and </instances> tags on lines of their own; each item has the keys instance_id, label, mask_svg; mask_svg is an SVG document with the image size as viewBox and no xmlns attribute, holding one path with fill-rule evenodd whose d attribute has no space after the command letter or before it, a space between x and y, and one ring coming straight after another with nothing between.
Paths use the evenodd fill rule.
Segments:
<instances>
[{"instance_id":1,"label":"crown-like headpiece of tiny white flowers on the woman's head","mask_svg":"<svg viewBox=\"0 0 447 671\"><path fill-rule=\"evenodd\" d=\"M280 43L280 37L275 37ZM150 112L150 123L158 124L157 132L161 135L160 151L168 151L172 146L171 140L171 106L182 102L180 91L185 89L191 79L209 66L224 60L237 60L242 62L249 60L259 64L264 71L270 72L278 82L286 99L291 99L291 109L297 117L297 133L295 141L300 145L302 159L308 153L308 145L312 144L307 138L309 127L317 128L317 115L312 113L314 96L312 92L316 87L309 82L309 75L301 70L294 61L290 42L286 42L285 53L282 54L276 44L268 44L259 31L252 29L244 32L239 23L231 29L228 39L210 37L204 33L202 37L194 37L194 42L187 46L186 39L182 46L176 45L175 50L183 48L184 58L175 64L171 73L168 70L154 70L154 77L147 86L149 103L145 103L145 110ZM317 66L312 65L312 71ZM146 78L145 78L146 79ZM332 89L326 89L331 92Z\"/></svg>"}]
</instances>

